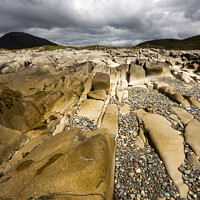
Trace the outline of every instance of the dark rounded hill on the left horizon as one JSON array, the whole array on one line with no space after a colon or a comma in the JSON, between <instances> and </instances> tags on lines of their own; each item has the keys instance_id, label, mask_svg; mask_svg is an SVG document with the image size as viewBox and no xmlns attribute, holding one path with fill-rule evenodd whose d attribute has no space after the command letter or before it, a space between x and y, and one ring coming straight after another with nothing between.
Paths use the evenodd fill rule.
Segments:
<instances>
[{"instance_id":1,"label":"dark rounded hill on the left horizon","mask_svg":"<svg viewBox=\"0 0 200 200\"><path fill-rule=\"evenodd\" d=\"M22 32L7 33L0 38L0 48L3 49L23 49L45 45L57 46L57 44L46 39Z\"/></svg>"}]
</instances>

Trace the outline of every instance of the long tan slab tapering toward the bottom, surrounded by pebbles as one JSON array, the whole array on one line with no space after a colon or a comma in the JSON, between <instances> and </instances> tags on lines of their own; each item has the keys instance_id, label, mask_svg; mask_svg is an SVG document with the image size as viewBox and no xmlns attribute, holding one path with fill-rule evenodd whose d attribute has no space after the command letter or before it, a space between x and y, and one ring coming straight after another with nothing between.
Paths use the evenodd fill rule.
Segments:
<instances>
[{"instance_id":1,"label":"long tan slab tapering toward the bottom, surrounded by pebbles","mask_svg":"<svg viewBox=\"0 0 200 200\"><path fill-rule=\"evenodd\" d=\"M152 144L165 163L169 176L178 187L180 197L186 198L188 187L178 170L185 159L184 141L179 131L174 130L170 122L161 115L147 113L142 109L137 110L136 115L143 122Z\"/></svg>"}]
</instances>

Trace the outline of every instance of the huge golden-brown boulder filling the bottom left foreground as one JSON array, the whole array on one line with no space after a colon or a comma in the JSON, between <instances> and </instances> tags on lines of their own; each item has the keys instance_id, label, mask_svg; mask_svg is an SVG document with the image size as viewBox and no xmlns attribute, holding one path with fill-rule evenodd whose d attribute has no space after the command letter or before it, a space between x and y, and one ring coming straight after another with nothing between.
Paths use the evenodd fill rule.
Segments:
<instances>
[{"instance_id":1,"label":"huge golden-brown boulder filling the bottom left foreground","mask_svg":"<svg viewBox=\"0 0 200 200\"><path fill-rule=\"evenodd\" d=\"M51 137L0 178L2 198L112 200L115 140L79 129Z\"/></svg>"}]
</instances>

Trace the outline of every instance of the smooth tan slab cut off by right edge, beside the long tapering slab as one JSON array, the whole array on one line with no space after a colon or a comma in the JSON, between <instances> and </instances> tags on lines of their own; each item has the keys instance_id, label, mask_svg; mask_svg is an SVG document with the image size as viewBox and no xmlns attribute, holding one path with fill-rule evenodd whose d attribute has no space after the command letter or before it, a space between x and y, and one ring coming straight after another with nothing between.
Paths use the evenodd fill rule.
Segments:
<instances>
[{"instance_id":1,"label":"smooth tan slab cut off by right edge, beside the long tapering slab","mask_svg":"<svg viewBox=\"0 0 200 200\"><path fill-rule=\"evenodd\" d=\"M186 143L200 156L200 122L197 119L193 119L188 123L184 136Z\"/></svg>"}]
</instances>

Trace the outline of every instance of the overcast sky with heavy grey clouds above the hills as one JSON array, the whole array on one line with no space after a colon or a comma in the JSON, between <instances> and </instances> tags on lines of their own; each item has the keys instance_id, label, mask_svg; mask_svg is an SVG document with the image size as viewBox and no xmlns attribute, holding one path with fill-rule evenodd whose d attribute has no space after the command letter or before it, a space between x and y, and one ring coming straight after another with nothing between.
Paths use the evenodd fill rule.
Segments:
<instances>
[{"instance_id":1,"label":"overcast sky with heavy grey clouds above the hills","mask_svg":"<svg viewBox=\"0 0 200 200\"><path fill-rule=\"evenodd\" d=\"M183 39L200 34L200 0L0 0L0 36L11 31L75 46Z\"/></svg>"}]
</instances>

